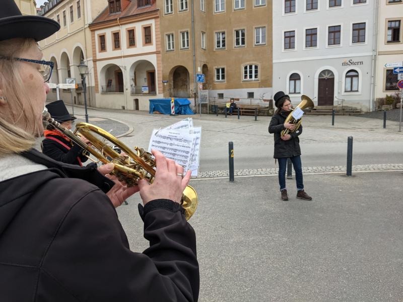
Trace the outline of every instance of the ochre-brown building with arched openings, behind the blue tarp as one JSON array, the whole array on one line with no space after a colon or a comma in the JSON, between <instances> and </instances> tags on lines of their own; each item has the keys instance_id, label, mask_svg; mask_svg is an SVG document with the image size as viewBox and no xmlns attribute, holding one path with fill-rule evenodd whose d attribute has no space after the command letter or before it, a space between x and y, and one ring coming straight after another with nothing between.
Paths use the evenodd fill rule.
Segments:
<instances>
[{"instance_id":1,"label":"ochre-brown building with arched openings, behind the blue tarp","mask_svg":"<svg viewBox=\"0 0 403 302\"><path fill-rule=\"evenodd\" d=\"M164 97L194 99L203 89L210 100L247 103L272 95L272 1L164 0L157 6ZM197 74L205 83L196 82Z\"/></svg>"}]
</instances>

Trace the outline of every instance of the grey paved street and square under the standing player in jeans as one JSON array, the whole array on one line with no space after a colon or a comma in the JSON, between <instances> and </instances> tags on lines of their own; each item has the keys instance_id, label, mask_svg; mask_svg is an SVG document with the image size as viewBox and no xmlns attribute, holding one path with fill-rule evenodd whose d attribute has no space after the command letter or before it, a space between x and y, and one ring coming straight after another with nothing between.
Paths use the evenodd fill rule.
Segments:
<instances>
[{"instance_id":1,"label":"grey paved street and square under the standing player in jeans","mask_svg":"<svg viewBox=\"0 0 403 302\"><path fill-rule=\"evenodd\" d=\"M84 119L82 108L76 116ZM154 128L184 116L89 110L90 123L147 148ZM304 183L312 201L280 200L271 117L192 116L202 126L199 204L199 301L403 301L403 134L398 122L307 116L301 135ZM353 177L346 176L354 137ZM228 179L234 142L235 181ZM139 196L117 209L133 251L148 247Z\"/></svg>"}]
</instances>

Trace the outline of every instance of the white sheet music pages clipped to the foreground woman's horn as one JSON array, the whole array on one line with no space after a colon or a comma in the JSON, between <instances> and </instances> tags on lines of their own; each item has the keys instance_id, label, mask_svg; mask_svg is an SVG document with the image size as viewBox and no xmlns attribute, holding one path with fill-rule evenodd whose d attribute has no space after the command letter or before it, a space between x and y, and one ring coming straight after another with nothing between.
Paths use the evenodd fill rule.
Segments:
<instances>
[{"instance_id":1,"label":"white sheet music pages clipped to the foreground woman's horn","mask_svg":"<svg viewBox=\"0 0 403 302\"><path fill-rule=\"evenodd\" d=\"M167 158L174 160L186 171L197 176L199 166L199 145L201 127L193 128L192 118L183 119L168 127L154 129L148 151L159 150Z\"/></svg>"}]
</instances>

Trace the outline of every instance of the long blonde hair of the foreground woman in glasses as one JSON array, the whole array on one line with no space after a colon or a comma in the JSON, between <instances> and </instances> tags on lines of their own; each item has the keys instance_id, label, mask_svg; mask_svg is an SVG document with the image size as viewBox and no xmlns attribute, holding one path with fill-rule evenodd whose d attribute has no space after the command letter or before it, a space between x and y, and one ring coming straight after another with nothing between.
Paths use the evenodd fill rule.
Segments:
<instances>
[{"instance_id":1,"label":"long blonde hair of the foreground woman in glasses","mask_svg":"<svg viewBox=\"0 0 403 302\"><path fill-rule=\"evenodd\" d=\"M35 45L33 39L0 41L0 57L16 57ZM0 89L6 104L0 105L0 157L21 153L33 147L40 132L37 117L22 84L19 65L12 59L0 59Z\"/></svg>"}]
</instances>

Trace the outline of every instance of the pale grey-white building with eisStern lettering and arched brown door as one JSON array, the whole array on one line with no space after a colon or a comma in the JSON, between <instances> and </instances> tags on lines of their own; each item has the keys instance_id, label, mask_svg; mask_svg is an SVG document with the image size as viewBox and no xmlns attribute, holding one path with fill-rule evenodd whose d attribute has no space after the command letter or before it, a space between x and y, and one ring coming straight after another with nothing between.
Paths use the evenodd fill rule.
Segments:
<instances>
[{"instance_id":1,"label":"pale grey-white building with eisStern lettering and arched brown door","mask_svg":"<svg viewBox=\"0 0 403 302\"><path fill-rule=\"evenodd\" d=\"M274 1L274 93L283 90L294 104L307 95L315 106L369 111L374 7L375 0Z\"/></svg>"}]
</instances>

